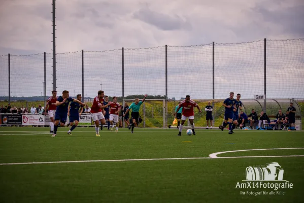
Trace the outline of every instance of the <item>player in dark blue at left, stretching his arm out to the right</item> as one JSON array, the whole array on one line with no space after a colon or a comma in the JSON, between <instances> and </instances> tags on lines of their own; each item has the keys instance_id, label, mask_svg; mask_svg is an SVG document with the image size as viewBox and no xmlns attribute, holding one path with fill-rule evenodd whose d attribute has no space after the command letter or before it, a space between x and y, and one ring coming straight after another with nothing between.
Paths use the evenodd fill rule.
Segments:
<instances>
[{"instance_id":1,"label":"player in dark blue at left, stretching his arm out to the right","mask_svg":"<svg viewBox=\"0 0 304 203\"><path fill-rule=\"evenodd\" d=\"M60 126L61 127L64 126L66 117L67 117L67 108L69 107L69 103L71 101L75 101L78 104L85 106L85 104L82 103L81 101L70 97L69 91L64 90L62 92L62 96L59 96L57 98L57 101L55 104L57 108L56 108L56 113L55 113L55 118L54 118L54 134L52 135L52 137L56 136L59 121L60 121Z\"/></svg>"}]
</instances>

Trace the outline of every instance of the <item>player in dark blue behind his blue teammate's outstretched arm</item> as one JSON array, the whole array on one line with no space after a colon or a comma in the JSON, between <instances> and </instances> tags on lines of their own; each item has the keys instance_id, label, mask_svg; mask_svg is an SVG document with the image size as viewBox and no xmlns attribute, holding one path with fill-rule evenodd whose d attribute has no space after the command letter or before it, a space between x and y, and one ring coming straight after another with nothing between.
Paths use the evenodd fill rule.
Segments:
<instances>
[{"instance_id":1,"label":"player in dark blue behind his blue teammate's outstretched arm","mask_svg":"<svg viewBox=\"0 0 304 203\"><path fill-rule=\"evenodd\" d=\"M77 100L81 101L82 96L81 94L77 94ZM80 112L79 112L80 109ZM70 118L70 125L72 126L69 131L67 131L67 134L72 134L72 131L77 127L79 122L79 116L81 116L83 110L83 106L78 104L75 101L72 101L69 105L69 108L67 109L67 116ZM74 124L75 121L75 124Z\"/></svg>"}]
</instances>

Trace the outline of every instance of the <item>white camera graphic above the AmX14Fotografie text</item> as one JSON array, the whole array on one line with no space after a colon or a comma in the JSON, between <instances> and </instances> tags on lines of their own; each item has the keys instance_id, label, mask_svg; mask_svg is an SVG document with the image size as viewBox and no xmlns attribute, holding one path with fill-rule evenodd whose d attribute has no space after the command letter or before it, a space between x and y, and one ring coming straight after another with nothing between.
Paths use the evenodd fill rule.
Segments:
<instances>
[{"instance_id":1,"label":"white camera graphic above the AmX14Fotografie text","mask_svg":"<svg viewBox=\"0 0 304 203\"><path fill-rule=\"evenodd\" d=\"M246 180L248 181L282 181L284 170L277 162L266 163L266 167L246 168Z\"/></svg>"}]
</instances>

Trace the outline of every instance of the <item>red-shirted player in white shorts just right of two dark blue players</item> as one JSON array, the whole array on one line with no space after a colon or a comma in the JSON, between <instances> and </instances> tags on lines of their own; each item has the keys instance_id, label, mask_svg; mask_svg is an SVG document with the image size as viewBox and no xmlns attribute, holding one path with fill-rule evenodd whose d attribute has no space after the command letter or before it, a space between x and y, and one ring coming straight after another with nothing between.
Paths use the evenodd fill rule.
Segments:
<instances>
[{"instance_id":1,"label":"red-shirted player in white shorts just right of two dark blue players","mask_svg":"<svg viewBox=\"0 0 304 203\"><path fill-rule=\"evenodd\" d=\"M110 106L112 103L109 102L107 105L103 106L104 102L104 96L105 92L102 90L98 91L98 96L94 98L93 105L91 107L91 113L92 113L92 119L95 122L95 130L96 130L96 136L99 136L99 121L102 123L102 125L106 124L106 119L105 119L105 108Z\"/></svg>"}]
</instances>

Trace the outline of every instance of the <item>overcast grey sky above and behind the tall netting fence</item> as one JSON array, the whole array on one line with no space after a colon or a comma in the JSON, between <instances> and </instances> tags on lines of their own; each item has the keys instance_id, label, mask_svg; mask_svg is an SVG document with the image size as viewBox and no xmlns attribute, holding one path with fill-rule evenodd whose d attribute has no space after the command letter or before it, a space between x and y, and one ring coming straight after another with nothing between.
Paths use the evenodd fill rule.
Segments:
<instances>
[{"instance_id":1,"label":"overcast grey sky above and behind the tall netting fence","mask_svg":"<svg viewBox=\"0 0 304 203\"><path fill-rule=\"evenodd\" d=\"M52 52L51 0L1 0L0 55ZM85 95L100 89L122 95L121 48L124 47L124 90L128 94L165 94L164 45L168 45L168 97L212 98L212 45L215 49L215 97L242 92L263 94L263 39L304 38L301 0L172 0L56 1L57 90L81 93L81 50L85 51ZM247 44L225 44L241 43ZM303 40L269 41L267 89L273 98L303 98ZM192 47L178 47L203 45ZM153 49L141 49L156 47ZM102 52L105 50L112 50ZM295 51L294 51L295 50ZM99 51L99 52L89 52ZM12 95L40 95L43 54L12 56ZM0 57L0 95L8 95L7 56ZM51 54L47 54L47 95L52 89ZM279 70L279 71L278 71ZM229 73L243 72L230 80ZM286 73L285 93L274 84ZM32 80L32 78L37 78ZM73 82L66 82L70 78ZM255 78L255 79L252 79ZM239 81L245 81L243 86ZM251 81L251 83L247 83ZM228 85L229 84L229 85ZM28 90L23 91L27 87ZM231 88L227 88L231 86ZM290 91L289 86L293 86ZM73 93L72 93L73 92ZM75 93L74 93L75 92ZM75 95L73 95L75 96Z\"/></svg>"}]
</instances>

